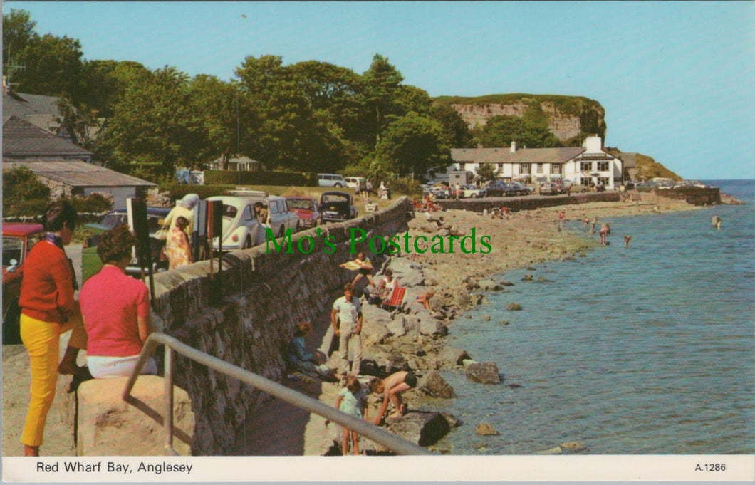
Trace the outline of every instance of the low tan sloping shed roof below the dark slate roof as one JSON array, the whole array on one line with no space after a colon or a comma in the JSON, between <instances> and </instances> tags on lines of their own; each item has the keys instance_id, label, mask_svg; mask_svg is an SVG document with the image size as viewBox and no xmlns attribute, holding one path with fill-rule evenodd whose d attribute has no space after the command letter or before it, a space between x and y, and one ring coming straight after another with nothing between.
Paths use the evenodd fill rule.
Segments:
<instances>
[{"instance_id":1,"label":"low tan sloping shed roof below the dark slate roof","mask_svg":"<svg viewBox=\"0 0 755 485\"><path fill-rule=\"evenodd\" d=\"M40 177L71 187L153 187L156 184L109 168L71 160L3 159L3 170L25 166Z\"/></svg>"}]
</instances>

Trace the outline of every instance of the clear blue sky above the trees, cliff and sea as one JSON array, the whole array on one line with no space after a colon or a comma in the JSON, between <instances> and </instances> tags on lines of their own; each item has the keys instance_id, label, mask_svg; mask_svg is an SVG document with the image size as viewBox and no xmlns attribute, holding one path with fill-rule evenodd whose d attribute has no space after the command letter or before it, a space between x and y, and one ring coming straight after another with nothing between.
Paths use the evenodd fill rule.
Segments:
<instances>
[{"instance_id":1,"label":"clear blue sky above the trees, cliff and sea","mask_svg":"<svg viewBox=\"0 0 755 485\"><path fill-rule=\"evenodd\" d=\"M87 59L231 79L248 55L442 94L590 97L605 144L685 178L755 178L755 2L5 2Z\"/></svg>"}]
</instances>

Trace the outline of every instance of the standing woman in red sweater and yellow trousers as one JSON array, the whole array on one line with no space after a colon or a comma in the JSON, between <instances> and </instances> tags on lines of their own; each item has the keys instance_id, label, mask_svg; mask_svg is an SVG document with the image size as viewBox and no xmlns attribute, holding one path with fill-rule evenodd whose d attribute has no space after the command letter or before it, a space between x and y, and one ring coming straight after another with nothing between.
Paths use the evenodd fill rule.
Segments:
<instances>
[{"instance_id":1,"label":"standing woman in red sweater and yellow trousers","mask_svg":"<svg viewBox=\"0 0 755 485\"><path fill-rule=\"evenodd\" d=\"M55 397L58 372L82 372L75 359L87 347L81 314L73 299L75 275L63 246L71 242L76 211L67 202L55 202L45 210L45 239L35 244L23 262L18 301L20 331L32 372L31 399L21 443L25 456L39 456L45 421ZM58 366L60 335L73 329L69 348Z\"/></svg>"}]
</instances>

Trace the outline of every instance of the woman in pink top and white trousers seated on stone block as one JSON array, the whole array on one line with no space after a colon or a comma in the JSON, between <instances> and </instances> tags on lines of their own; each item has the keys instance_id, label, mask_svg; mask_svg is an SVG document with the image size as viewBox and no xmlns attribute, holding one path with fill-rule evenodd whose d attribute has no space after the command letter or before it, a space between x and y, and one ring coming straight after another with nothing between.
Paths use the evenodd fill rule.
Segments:
<instances>
[{"instance_id":1,"label":"woman in pink top and white trousers seated on stone block","mask_svg":"<svg viewBox=\"0 0 755 485\"><path fill-rule=\"evenodd\" d=\"M149 327L149 291L144 283L126 276L136 238L125 224L102 235L97 255L104 266L79 294L89 337L87 364L95 378L131 375L139 360ZM150 358L142 374L156 374Z\"/></svg>"}]
</instances>

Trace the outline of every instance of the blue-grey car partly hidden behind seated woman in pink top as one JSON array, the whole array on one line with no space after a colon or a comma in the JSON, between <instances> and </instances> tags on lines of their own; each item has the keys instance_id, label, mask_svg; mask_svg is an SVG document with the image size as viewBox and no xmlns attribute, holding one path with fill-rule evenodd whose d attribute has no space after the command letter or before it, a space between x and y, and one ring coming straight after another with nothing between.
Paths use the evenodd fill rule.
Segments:
<instances>
[{"instance_id":1,"label":"blue-grey car partly hidden behind seated woman in pink top","mask_svg":"<svg viewBox=\"0 0 755 485\"><path fill-rule=\"evenodd\" d=\"M152 258L153 273L168 269L168 261L162 261L160 259L160 253L162 252L163 246L165 246L165 240L157 239L155 234L162 227L162 220L169 212L171 212L171 209L167 207L146 208L146 221L147 227L149 228L149 254ZM91 276L93 271L96 273L102 265L102 261L100 261L97 251L94 250L94 248L100 244L102 233L119 224L128 224L128 212L125 208L112 210L104 215L100 222L85 225L85 227L88 227L88 229L93 230L95 233L85 240L84 249L82 249L82 267L87 268L82 275L82 280ZM149 271L149 268L147 267L143 269L145 272ZM131 263L126 267L126 274L129 276L141 277L142 267L140 267L137 258L132 259Z\"/></svg>"}]
</instances>

